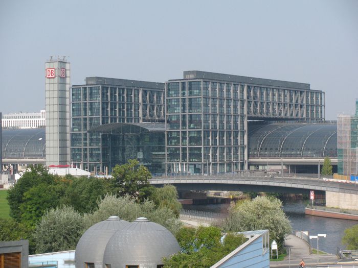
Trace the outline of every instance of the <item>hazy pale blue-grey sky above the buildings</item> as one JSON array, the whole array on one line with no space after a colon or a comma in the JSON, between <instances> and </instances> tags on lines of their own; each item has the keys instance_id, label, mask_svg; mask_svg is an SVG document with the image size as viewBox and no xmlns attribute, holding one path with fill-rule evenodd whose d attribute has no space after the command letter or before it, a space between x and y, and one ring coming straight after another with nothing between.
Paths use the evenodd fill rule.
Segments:
<instances>
[{"instance_id":1,"label":"hazy pale blue-grey sky above the buildings","mask_svg":"<svg viewBox=\"0 0 358 268\"><path fill-rule=\"evenodd\" d=\"M205 70L310 83L326 119L358 98L358 1L0 0L0 111L44 108L44 62L71 84L164 82Z\"/></svg>"}]
</instances>

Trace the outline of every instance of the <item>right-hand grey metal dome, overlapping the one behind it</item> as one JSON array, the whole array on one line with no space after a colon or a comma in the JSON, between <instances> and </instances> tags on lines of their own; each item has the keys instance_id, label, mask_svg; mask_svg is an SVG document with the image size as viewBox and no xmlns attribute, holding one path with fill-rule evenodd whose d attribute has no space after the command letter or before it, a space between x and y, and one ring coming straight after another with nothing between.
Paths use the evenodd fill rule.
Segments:
<instances>
[{"instance_id":1,"label":"right-hand grey metal dome, overlapping the one behind it","mask_svg":"<svg viewBox=\"0 0 358 268\"><path fill-rule=\"evenodd\" d=\"M180 246L168 229L139 217L110 238L103 263L111 267L145 264L156 268L163 264L163 257L179 251Z\"/></svg>"}]
</instances>

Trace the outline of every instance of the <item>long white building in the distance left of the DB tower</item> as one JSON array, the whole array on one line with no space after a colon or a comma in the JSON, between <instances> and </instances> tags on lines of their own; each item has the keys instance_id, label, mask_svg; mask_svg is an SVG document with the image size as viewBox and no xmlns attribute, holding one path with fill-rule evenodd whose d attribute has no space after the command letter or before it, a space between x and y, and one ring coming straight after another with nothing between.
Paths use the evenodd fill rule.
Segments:
<instances>
[{"instance_id":1,"label":"long white building in the distance left of the DB tower","mask_svg":"<svg viewBox=\"0 0 358 268\"><path fill-rule=\"evenodd\" d=\"M46 111L9 113L3 115L3 129L34 129L46 126Z\"/></svg>"}]
</instances>

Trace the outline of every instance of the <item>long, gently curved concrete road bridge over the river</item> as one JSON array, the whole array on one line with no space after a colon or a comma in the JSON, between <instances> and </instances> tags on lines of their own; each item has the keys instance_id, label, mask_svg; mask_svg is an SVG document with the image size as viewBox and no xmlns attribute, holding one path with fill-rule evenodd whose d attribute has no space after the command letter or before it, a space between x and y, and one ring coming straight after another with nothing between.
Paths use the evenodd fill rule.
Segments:
<instances>
[{"instance_id":1,"label":"long, gently curved concrete road bridge over the river","mask_svg":"<svg viewBox=\"0 0 358 268\"><path fill-rule=\"evenodd\" d=\"M153 185L172 184L178 191L221 190L325 194L327 207L358 210L358 185L305 177L244 176L237 174L153 177Z\"/></svg>"}]
</instances>

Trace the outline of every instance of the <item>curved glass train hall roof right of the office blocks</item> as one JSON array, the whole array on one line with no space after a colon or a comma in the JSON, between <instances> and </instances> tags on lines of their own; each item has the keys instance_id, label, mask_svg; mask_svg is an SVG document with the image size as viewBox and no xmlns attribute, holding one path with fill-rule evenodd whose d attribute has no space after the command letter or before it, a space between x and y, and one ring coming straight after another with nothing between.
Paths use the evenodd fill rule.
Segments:
<instances>
[{"instance_id":1,"label":"curved glass train hall roof right of the office blocks","mask_svg":"<svg viewBox=\"0 0 358 268\"><path fill-rule=\"evenodd\" d=\"M249 158L337 158L337 124L249 125Z\"/></svg>"}]
</instances>

